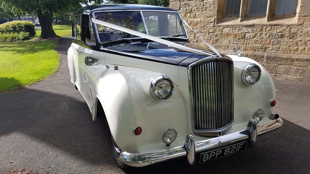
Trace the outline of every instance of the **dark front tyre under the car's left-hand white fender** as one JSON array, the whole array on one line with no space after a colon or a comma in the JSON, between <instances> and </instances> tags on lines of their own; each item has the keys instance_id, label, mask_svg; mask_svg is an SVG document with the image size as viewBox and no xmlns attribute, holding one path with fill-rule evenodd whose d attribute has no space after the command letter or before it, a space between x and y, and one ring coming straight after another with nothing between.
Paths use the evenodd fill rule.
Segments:
<instances>
[{"instance_id":1,"label":"dark front tyre under the car's left-hand white fender","mask_svg":"<svg viewBox=\"0 0 310 174\"><path fill-rule=\"evenodd\" d=\"M108 136L108 140L109 140L109 145L110 145L111 151L112 151L112 156L113 156L113 159L114 159L115 163L121 169L125 169L125 168L130 167L127 164L125 164L124 162L122 162L122 160L119 157L121 149L117 146L116 142L114 141L114 139L112 137L112 134L111 134L111 131L110 131L107 119L105 119L105 127L106 127L106 132L107 132L107 136Z\"/></svg>"}]
</instances>

